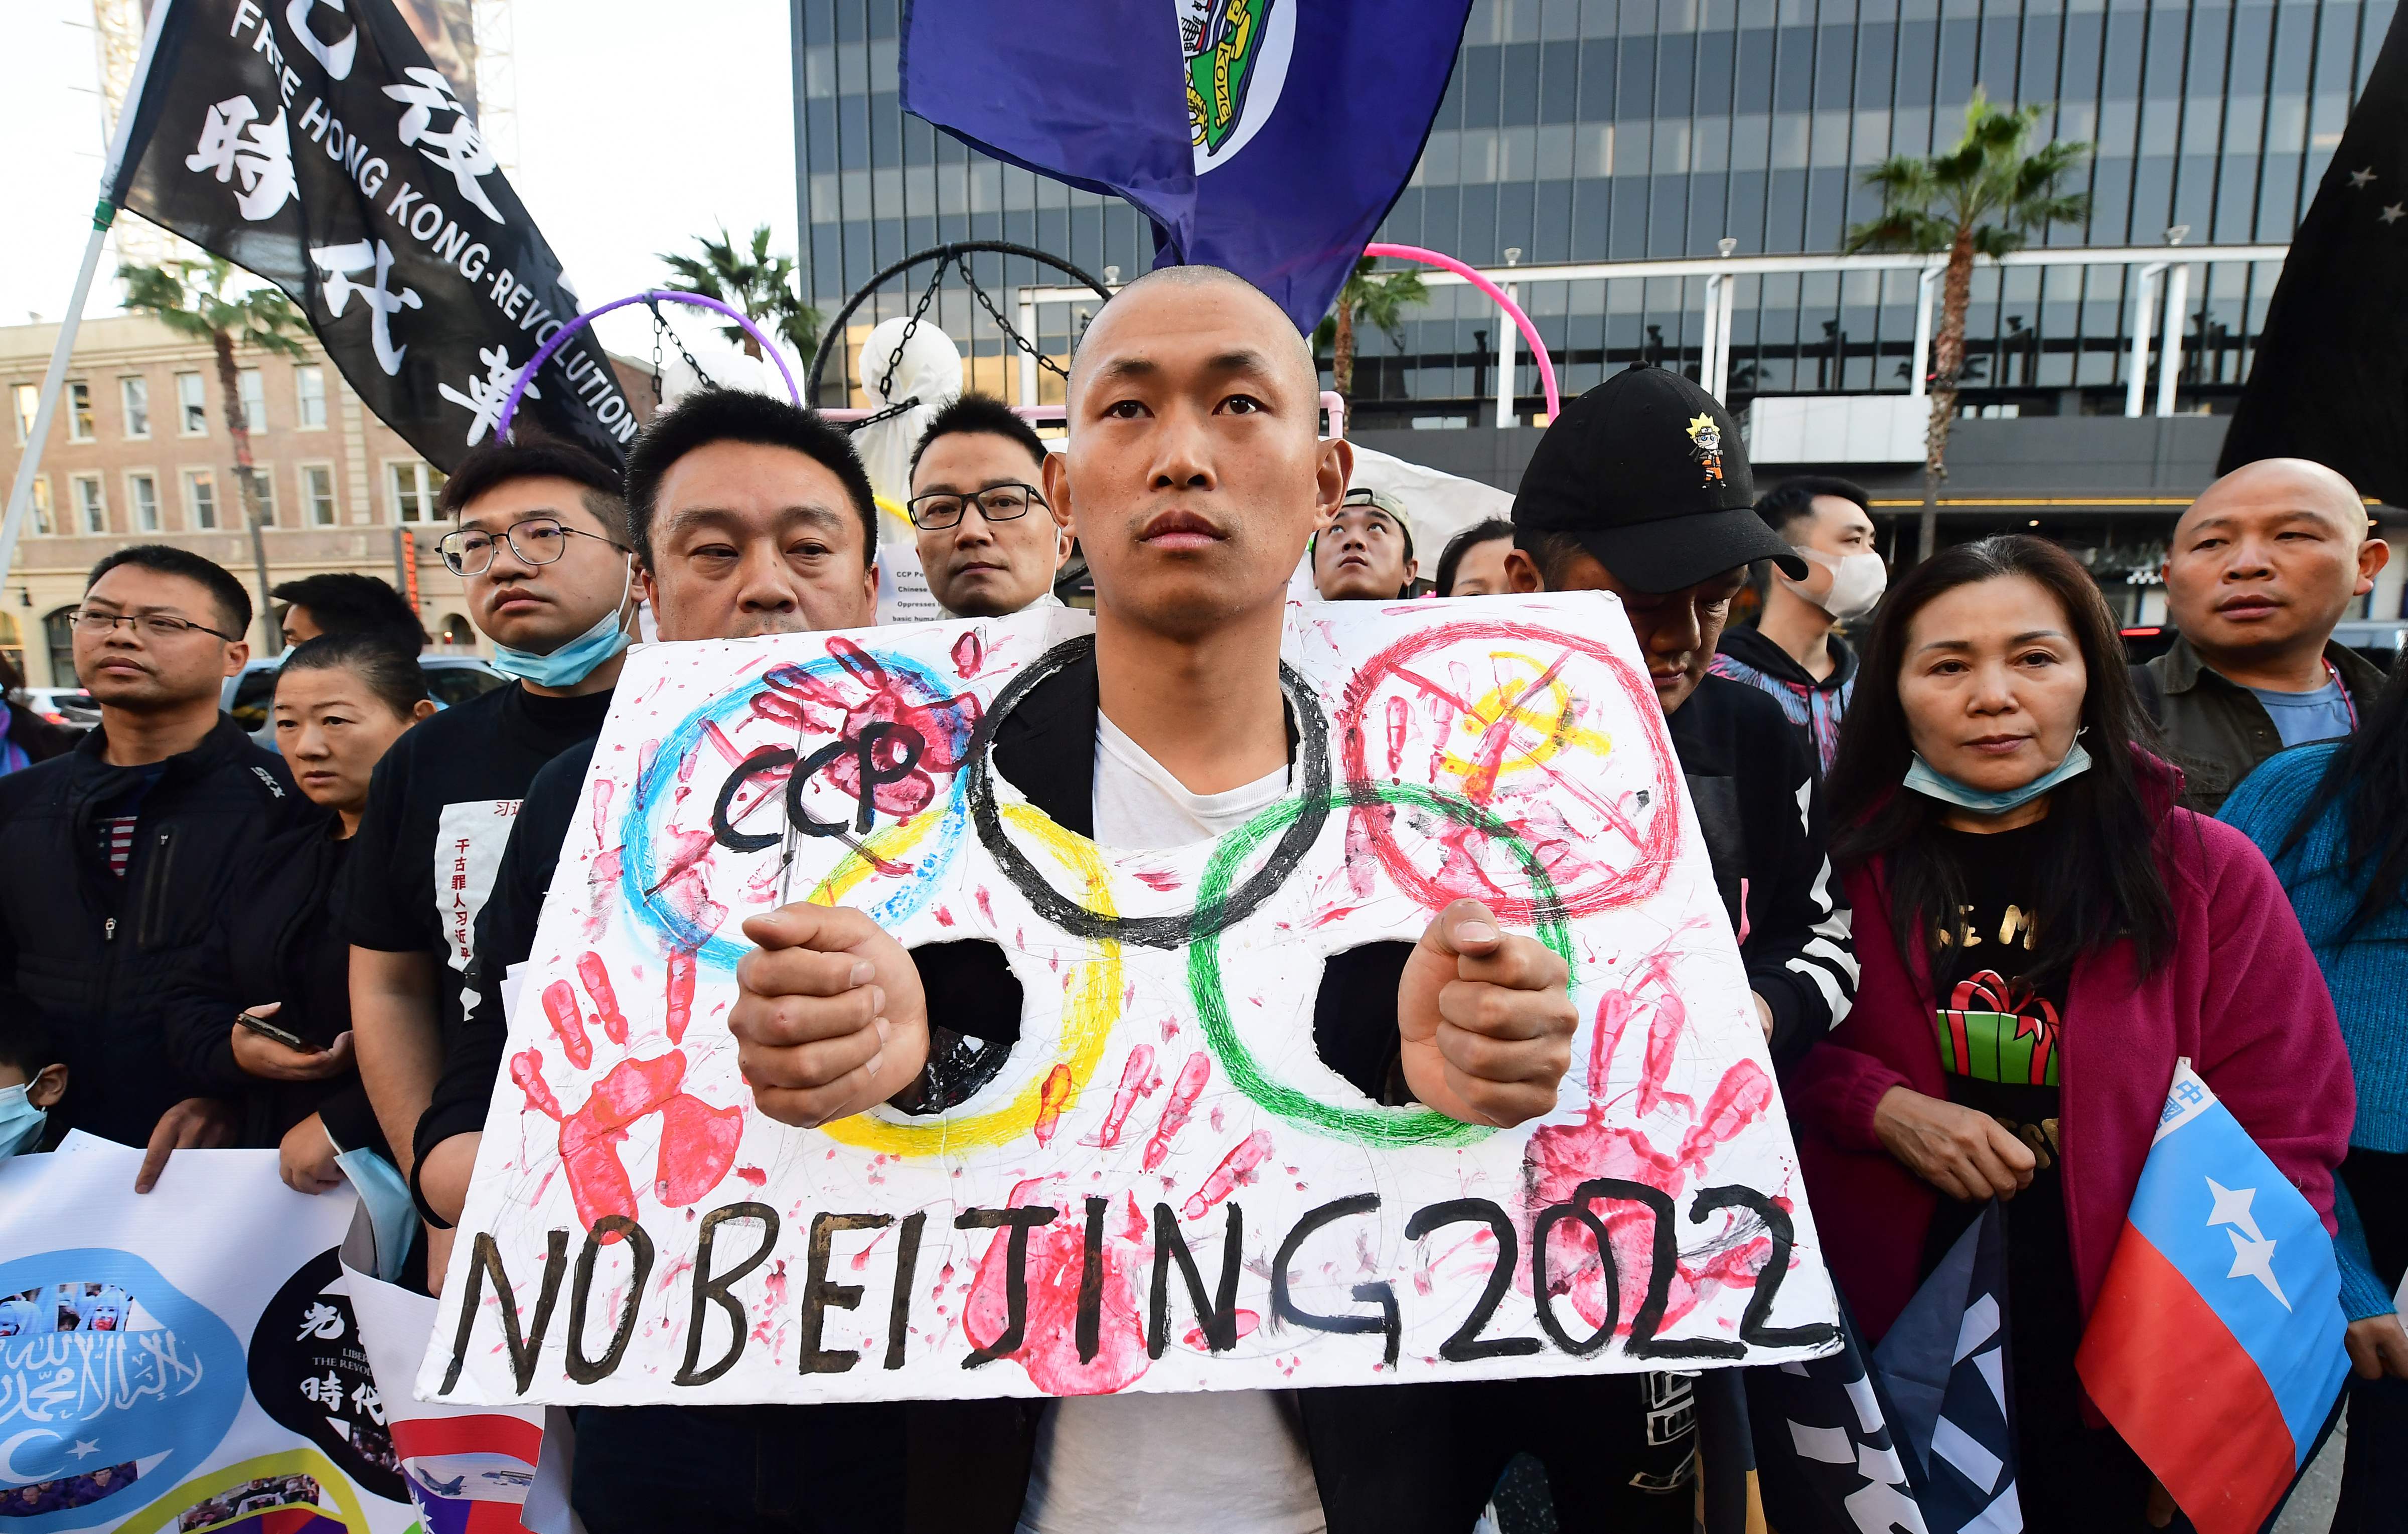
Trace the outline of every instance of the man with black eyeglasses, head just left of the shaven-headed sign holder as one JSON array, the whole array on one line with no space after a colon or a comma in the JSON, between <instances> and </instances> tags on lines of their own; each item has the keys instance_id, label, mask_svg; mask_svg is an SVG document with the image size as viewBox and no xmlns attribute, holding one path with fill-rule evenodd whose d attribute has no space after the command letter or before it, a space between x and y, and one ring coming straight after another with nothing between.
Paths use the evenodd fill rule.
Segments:
<instances>
[{"instance_id":1,"label":"man with black eyeglasses, head just left of the shaven-headed sign holder","mask_svg":"<svg viewBox=\"0 0 2408 1534\"><path fill-rule=\"evenodd\" d=\"M990 395L961 395L910 455L910 525L937 607L956 619L999 619L1060 604L1055 573L1069 532L1045 506L1045 441Z\"/></svg>"}]
</instances>

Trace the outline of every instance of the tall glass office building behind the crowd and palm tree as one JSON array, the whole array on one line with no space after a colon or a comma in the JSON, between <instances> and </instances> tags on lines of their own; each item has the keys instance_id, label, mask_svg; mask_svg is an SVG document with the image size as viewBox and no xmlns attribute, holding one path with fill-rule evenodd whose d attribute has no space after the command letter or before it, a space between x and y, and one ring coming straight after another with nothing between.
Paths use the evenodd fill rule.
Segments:
<instances>
[{"instance_id":1,"label":"tall glass office building behind the crowd and palm tree","mask_svg":"<svg viewBox=\"0 0 2408 1534\"><path fill-rule=\"evenodd\" d=\"M821 308L956 238L1031 243L1091 272L1144 267L1151 234L1134 210L903 116L898 12L901 0L797 0L797 176ZM1534 267L1517 272L1519 296L1568 395L1633 361L1695 373L1705 275L1649 267L1695 267L1722 241L1736 255L1837 253L1876 210L1864 171L1946 149L1982 89L2044 104L2044 130L2095 144L2081 171L2090 219L2040 243L2126 255L1979 272L1965 407L2121 414L2148 282L2133 248L2162 255L2179 229L2194 272L2179 409L2220 409L2391 12L2394 0L1476 0L1428 149L1380 238ZM925 277L886 284L850 328L903 313ZM980 279L999 301L1014 284L1064 282L1002 260ZM934 313L970 342L980 383L1014 395L1007 342L973 311L954 282ZM1495 311L1435 287L1411 313L1399 337L1363 337L1358 419L1486 419ZM1076 323L1076 306L1045 306L1043 347L1064 352ZM1912 270L1734 277L1731 400L1905 393L1914 328ZM1522 368L1529 409L1536 388Z\"/></svg>"}]
</instances>

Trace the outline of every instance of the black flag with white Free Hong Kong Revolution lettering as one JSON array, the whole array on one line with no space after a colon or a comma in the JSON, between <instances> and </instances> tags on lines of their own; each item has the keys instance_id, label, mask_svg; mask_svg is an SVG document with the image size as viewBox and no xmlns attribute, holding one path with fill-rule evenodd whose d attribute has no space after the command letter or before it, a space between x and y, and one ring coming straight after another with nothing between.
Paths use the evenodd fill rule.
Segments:
<instances>
[{"instance_id":1,"label":"black flag with white Free Hong Kong Revolution lettering","mask_svg":"<svg viewBox=\"0 0 2408 1534\"><path fill-rule=\"evenodd\" d=\"M368 409L458 467L578 313L470 106L390 0L159 2L108 200L291 294ZM544 364L518 421L609 462L636 436L590 335Z\"/></svg>"}]
</instances>

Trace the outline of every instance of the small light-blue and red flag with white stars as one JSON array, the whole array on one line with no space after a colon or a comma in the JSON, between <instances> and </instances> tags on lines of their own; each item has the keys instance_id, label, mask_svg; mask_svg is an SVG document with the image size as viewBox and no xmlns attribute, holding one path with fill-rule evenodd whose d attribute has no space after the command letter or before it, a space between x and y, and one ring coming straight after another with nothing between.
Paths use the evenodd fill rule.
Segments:
<instances>
[{"instance_id":1,"label":"small light-blue and red flag with white stars","mask_svg":"<svg viewBox=\"0 0 2408 1534\"><path fill-rule=\"evenodd\" d=\"M2184 1060L2073 1363L2201 1534L2254 1534L2350 1358L2324 1219Z\"/></svg>"}]
</instances>

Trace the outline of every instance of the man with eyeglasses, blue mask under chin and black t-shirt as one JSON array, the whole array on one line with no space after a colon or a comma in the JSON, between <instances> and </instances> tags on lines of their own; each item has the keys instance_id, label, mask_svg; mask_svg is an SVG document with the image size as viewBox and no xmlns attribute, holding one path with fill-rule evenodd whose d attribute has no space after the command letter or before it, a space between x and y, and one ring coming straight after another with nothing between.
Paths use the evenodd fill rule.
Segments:
<instances>
[{"instance_id":1,"label":"man with eyeglasses, blue mask under chin and black t-shirt","mask_svg":"<svg viewBox=\"0 0 2408 1534\"><path fill-rule=\"evenodd\" d=\"M395 742L335 891L359 1076L405 1175L445 1040L474 1007L460 978L518 802L602 730L633 592L619 470L578 448L484 448L445 482L443 511L458 518L443 564L513 684Z\"/></svg>"}]
</instances>

